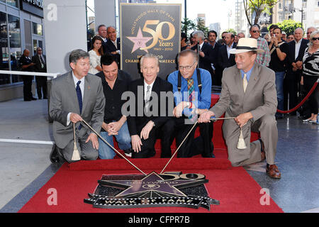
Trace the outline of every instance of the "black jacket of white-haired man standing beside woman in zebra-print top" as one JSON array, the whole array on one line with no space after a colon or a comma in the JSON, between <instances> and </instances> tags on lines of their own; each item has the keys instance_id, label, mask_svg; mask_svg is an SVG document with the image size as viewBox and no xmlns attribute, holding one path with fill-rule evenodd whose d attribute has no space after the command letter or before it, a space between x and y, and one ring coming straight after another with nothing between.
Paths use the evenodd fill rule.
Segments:
<instances>
[{"instance_id":1,"label":"black jacket of white-haired man standing beside woman in zebra-print top","mask_svg":"<svg viewBox=\"0 0 319 227\"><path fill-rule=\"evenodd\" d=\"M298 52L298 57L295 60L295 50L296 50L296 42L292 40L291 42L288 43L288 53L286 57L286 62L287 62L287 72L288 73L293 73L293 67L292 63L293 62L298 62L298 61L303 61L303 55L305 55L305 50L308 48L308 43L309 40L305 40L304 38L301 39L301 45L300 49Z\"/></svg>"}]
</instances>

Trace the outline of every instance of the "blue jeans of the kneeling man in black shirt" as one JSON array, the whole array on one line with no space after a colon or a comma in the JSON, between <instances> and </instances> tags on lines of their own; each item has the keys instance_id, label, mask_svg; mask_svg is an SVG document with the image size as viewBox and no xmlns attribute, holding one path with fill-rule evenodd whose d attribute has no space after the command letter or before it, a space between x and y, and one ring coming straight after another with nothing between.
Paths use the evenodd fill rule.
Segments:
<instances>
[{"instance_id":1,"label":"blue jeans of the kneeling man in black shirt","mask_svg":"<svg viewBox=\"0 0 319 227\"><path fill-rule=\"evenodd\" d=\"M114 147L113 135L108 135L107 132L101 132L100 135L104 140ZM126 121L118 131L118 135L114 136L116 137L116 141L118 141L118 147L121 150L132 148L132 145L130 144L130 133L128 132L128 124ZM115 155L116 153L114 150L99 138L99 157L101 159L112 159Z\"/></svg>"}]
</instances>

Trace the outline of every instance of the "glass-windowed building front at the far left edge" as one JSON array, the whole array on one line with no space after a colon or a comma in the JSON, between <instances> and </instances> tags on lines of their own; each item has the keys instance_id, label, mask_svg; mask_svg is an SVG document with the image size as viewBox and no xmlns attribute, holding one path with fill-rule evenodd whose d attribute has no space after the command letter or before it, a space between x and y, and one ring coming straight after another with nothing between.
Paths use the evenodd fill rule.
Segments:
<instances>
[{"instance_id":1,"label":"glass-windowed building front at the far left edge","mask_svg":"<svg viewBox=\"0 0 319 227\"><path fill-rule=\"evenodd\" d=\"M43 0L0 0L0 70L18 70L24 49L43 48ZM23 96L22 77L0 73L0 101Z\"/></svg>"}]
</instances>

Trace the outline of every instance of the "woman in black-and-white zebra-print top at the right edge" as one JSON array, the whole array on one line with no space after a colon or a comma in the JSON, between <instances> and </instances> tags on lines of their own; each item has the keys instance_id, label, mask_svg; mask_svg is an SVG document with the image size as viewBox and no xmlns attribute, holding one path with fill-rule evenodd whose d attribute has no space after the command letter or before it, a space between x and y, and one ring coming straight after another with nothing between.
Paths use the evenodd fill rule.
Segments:
<instances>
[{"instance_id":1,"label":"woman in black-and-white zebra-print top at the right edge","mask_svg":"<svg viewBox=\"0 0 319 227\"><path fill-rule=\"evenodd\" d=\"M301 84L309 92L313 87L313 84L317 82L319 78L319 31L311 33L309 38L309 47L305 51L303 56L303 76L301 77ZM318 92L318 86L313 93L309 96L309 108L311 116L303 122L316 123L318 116L318 100L316 99L316 93Z\"/></svg>"}]
</instances>

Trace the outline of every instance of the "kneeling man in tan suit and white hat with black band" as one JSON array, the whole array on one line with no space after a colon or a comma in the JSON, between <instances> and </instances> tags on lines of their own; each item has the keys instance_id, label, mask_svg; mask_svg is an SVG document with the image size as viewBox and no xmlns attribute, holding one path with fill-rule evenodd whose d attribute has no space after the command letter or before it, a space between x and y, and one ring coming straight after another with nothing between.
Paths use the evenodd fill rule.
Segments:
<instances>
[{"instance_id":1,"label":"kneeling man in tan suit and white hat with black band","mask_svg":"<svg viewBox=\"0 0 319 227\"><path fill-rule=\"evenodd\" d=\"M208 122L211 116L234 117L223 123L223 135L228 146L228 159L233 166L250 165L266 157L269 177L280 178L281 173L274 165L278 131L276 127L277 97L274 71L254 62L257 53L254 38L241 38L237 47L230 50L235 54L236 65L223 72L222 90L218 103L198 118ZM237 146L240 132L247 148ZM250 143L251 131L259 132L261 140ZM238 147L238 148L237 148Z\"/></svg>"}]
</instances>

